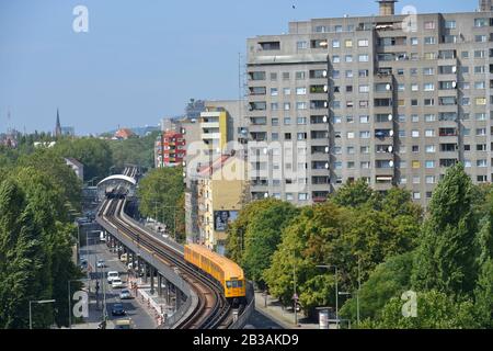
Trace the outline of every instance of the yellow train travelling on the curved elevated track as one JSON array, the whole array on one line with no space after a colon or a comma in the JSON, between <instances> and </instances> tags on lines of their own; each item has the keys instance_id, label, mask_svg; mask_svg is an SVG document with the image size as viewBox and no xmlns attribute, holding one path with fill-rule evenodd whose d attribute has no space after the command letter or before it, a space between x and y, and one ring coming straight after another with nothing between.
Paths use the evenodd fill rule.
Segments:
<instances>
[{"instance_id":1,"label":"yellow train travelling on the curved elevated track","mask_svg":"<svg viewBox=\"0 0 493 351\"><path fill-rule=\"evenodd\" d=\"M246 285L237 263L196 244L185 245L185 261L217 280L230 302L244 302Z\"/></svg>"}]
</instances>

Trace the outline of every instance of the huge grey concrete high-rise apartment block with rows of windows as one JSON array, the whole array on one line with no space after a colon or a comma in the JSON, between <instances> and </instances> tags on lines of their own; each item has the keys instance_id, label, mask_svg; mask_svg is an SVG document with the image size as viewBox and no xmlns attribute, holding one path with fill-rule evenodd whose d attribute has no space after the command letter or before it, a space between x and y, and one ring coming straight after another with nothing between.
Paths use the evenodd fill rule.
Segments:
<instances>
[{"instance_id":1,"label":"huge grey concrete high-rise apartment block with rows of windows","mask_svg":"<svg viewBox=\"0 0 493 351\"><path fill-rule=\"evenodd\" d=\"M458 161L474 182L492 181L491 1L406 15L378 2L379 15L293 22L248 41L253 199L303 205L364 178L426 205Z\"/></svg>"}]
</instances>

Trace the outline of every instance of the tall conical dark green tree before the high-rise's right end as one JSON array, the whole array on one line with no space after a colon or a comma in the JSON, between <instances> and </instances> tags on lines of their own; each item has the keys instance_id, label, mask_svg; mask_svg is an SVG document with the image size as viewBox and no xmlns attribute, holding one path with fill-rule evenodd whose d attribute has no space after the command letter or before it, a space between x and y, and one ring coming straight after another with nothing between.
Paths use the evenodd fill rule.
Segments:
<instances>
[{"instance_id":1,"label":"tall conical dark green tree before the high-rise's right end","mask_svg":"<svg viewBox=\"0 0 493 351\"><path fill-rule=\"evenodd\" d=\"M470 295L477 278L472 182L463 166L451 167L429 203L414 262L417 291Z\"/></svg>"}]
</instances>

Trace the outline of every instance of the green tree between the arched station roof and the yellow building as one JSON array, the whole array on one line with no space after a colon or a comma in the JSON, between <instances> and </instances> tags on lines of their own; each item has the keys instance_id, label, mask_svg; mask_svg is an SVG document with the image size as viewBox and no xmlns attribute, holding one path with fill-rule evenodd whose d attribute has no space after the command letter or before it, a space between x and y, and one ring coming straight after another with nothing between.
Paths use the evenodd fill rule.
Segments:
<instances>
[{"instance_id":1,"label":"green tree between the arched station roof and the yellow building","mask_svg":"<svg viewBox=\"0 0 493 351\"><path fill-rule=\"evenodd\" d=\"M159 168L151 170L139 183L138 197L140 214L156 218L167 225L169 233L174 233L176 224L177 237L184 238L185 216L180 202L184 202L185 186L183 169Z\"/></svg>"}]
</instances>

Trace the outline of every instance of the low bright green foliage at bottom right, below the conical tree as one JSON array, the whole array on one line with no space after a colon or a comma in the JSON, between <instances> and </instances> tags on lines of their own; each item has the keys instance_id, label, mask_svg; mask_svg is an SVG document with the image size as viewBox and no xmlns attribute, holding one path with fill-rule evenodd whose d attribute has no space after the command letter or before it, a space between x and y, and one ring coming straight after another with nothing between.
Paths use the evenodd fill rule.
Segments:
<instances>
[{"instance_id":1,"label":"low bright green foliage at bottom right, below the conical tree","mask_svg":"<svg viewBox=\"0 0 493 351\"><path fill-rule=\"evenodd\" d=\"M455 302L437 291L417 293L417 317L404 317L405 302L391 298L381 312L381 318L366 327L378 329L469 329L478 328L471 301Z\"/></svg>"}]
</instances>

